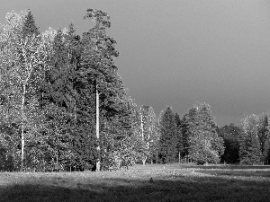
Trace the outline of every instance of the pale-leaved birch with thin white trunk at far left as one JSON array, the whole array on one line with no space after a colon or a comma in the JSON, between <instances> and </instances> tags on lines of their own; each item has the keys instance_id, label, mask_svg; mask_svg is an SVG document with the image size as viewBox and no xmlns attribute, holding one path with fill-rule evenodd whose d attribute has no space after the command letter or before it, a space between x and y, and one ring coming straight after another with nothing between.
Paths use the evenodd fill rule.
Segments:
<instances>
[{"instance_id":1,"label":"pale-leaved birch with thin white trunk at far left","mask_svg":"<svg viewBox=\"0 0 270 202\"><path fill-rule=\"evenodd\" d=\"M31 110L38 105L35 92L44 78L48 58L46 42L37 32L26 34L29 12L7 13L1 29L1 90L13 104L9 113L17 119L21 132L21 171L23 171L25 137L29 128L37 126ZM31 116L33 115L33 116ZM14 119L14 120L15 120ZM31 126L31 127L30 127ZM29 134L29 133L28 133Z\"/></svg>"}]
</instances>

